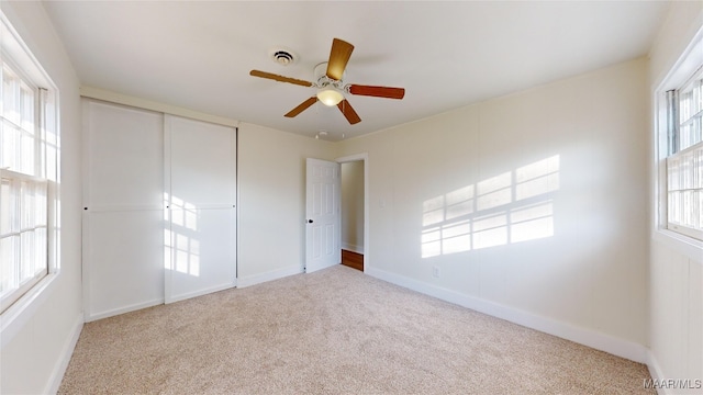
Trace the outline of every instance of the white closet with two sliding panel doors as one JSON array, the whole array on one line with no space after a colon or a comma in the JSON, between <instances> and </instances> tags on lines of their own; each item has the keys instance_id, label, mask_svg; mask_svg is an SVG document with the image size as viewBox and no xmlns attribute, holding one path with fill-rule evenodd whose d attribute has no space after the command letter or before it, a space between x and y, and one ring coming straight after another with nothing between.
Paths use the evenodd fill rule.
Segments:
<instances>
[{"instance_id":1,"label":"white closet with two sliding panel doors","mask_svg":"<svg viewBox=\"0 0 703 395\"><path fill-rule=\"evenodd\" d=\"M236 128L93 99L83 113L86 321L236 285Z\"/></svg>"}]
</instances>

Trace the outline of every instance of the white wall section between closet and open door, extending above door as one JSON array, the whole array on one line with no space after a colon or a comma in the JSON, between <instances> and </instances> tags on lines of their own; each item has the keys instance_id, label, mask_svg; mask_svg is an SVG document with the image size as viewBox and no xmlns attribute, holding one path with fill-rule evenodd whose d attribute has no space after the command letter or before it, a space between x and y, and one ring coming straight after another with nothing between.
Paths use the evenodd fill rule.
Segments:
<instances>
[{"instance_id":1,"label":"white wall section between closet and open door, extending above door","mask_svg":"<svg viewBox=\"0 0 703 395\"><path fill-rule=\"evenodd\" d=\"M300 273L305 259L305 158L333 160L333 143L263 126L238 129L237 285Z\"/></svg>"}]
</instances>

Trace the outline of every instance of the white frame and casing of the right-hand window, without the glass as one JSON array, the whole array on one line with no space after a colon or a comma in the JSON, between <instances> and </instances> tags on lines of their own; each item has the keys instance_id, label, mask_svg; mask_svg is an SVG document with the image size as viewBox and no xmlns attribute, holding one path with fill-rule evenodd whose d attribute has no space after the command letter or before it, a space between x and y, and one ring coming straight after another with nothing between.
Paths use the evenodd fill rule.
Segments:
<instances>
[{"instance_id":1,"label":"white frame and casing of the right-hand window, without the glass","mask_svg":"<svg viewBox=\"0 0 703 395\"><path fill-rule=\"evenodd\" d=\"M700 149L700 144L671 154L670 134L672 114L669 105L668 93L672 90L684 88L694 76L699 76L703 65L703 29L699 30L694 38L685 48L681 57L673 65L663 81L654 91L655 110L655 199L654 199L654 237L677 248L694 259L703 255L703 234L698 229L681 227L678 224L669 224L668 201L668 169L669 158L676 159L691 151ZM677 114L673 114L677 115ZM676 119L679 122L679 119Z\"/></svg>"}]
</instances>

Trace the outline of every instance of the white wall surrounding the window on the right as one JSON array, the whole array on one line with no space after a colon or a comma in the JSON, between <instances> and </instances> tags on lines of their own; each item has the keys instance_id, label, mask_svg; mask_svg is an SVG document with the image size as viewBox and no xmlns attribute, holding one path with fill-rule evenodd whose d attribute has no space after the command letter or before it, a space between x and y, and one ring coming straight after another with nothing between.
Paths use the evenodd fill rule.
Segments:
<instances>
[{"instance_id":1,"label":"white wall surrounding the window on the right","mask_svg":"<svg viewBox=\"0 0 703 395\"><path fill-rule=\"evenodd\" d=\"M650 52L651 97L701 26L703 2L672 3ZM703 52L703 48L698 50ZM654 134L649 140L654 140ZM652 154L651 169L656 166L654 158ZM656 171L651 174L654 190ZM652 199L651 213L657 212L656 204ZM658 230L654 218L652 224L649 282L652 375L703 380L703 250L687 247Z\"/></svg>"}]
</instances>

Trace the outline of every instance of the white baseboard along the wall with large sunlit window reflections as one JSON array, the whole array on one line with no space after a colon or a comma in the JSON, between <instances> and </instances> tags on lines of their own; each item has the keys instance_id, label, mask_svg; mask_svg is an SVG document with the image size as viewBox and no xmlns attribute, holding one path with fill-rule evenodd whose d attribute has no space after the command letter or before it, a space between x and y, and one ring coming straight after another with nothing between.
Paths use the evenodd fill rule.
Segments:
<instances>
[{"instance_id":1,"label":"white baseboard along the wall with large sunlit window reflections","mask_svg":"<svg viewBox=\"0 0 703 395\"><path fill-rule=\"evenodd\" d=\"M417 280L409 279L395 273L376 268L366 268L365 272L377 279L417 291L420 293L437 297L439 300L457 304L493 317L502 318L532 329L554 335L583 346L605 351L628 360L648 363L648 349L636 342L620 339L592 329L574 326L568 323L539 316L529 312L514 307L489 302L478 297L458 293L456 291L443 289L427 284Z\"/></svg>"}]
</instances>

